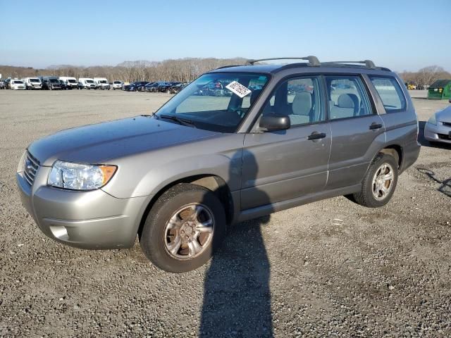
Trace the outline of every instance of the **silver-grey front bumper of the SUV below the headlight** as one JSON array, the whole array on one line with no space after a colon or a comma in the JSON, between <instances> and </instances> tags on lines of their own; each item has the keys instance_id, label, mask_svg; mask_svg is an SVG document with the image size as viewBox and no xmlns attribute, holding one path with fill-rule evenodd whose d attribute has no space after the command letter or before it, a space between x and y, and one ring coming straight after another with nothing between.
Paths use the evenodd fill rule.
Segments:
<instances>
[{"instance_id":1,"label":"silver-grey front bumper of the SUV below the headlight","mask_svg":"<svg viewBox=\"0 0 451 338\"><path fill-rule=\"evenodd\" d=\"M82 249L121 249L135 243L148 196L116 199L101 189L75 192L47 186L40 167L32 186L16 173L20 199L51 239Z\"/></svg>"}]
</instances>

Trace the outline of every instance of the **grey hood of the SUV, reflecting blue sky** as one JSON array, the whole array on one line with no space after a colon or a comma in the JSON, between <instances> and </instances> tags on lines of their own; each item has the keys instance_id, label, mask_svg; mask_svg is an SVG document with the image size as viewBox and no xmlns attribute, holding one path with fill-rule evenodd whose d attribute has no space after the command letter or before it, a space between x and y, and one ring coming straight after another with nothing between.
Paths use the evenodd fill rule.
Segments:
<instances>
[{"instance_id":1,"label":"grey hood of the SUV, reflecting blue sky","mask_svg":"<svg viewBox=\"0 0 451 338\"><path fill-rule=\"evenodd\" d=\"M28 151L41 165L54 161L101 164L145 151L213 137L218 132L137 116L63 130L33 142Z\"/></svg>"}]
</instances>

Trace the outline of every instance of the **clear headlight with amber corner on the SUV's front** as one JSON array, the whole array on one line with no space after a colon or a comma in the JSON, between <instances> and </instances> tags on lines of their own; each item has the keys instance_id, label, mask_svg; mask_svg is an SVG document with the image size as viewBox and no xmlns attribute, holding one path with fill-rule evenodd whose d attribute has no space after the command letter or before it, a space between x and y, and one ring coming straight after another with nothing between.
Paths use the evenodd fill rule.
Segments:
<instances>
[{"instance_id":1,"label":"clear headlight with amber corner on the SUV's front","mask_svg":"<svg viewBox=\"0 0 451 338\"><path fill-rule=\"evenodd\" d=\"M51 167L47 184L73 190L93 190L103 187L111 180L116 165L87 165L56 161Z\"/></svg>"}]
</instances>

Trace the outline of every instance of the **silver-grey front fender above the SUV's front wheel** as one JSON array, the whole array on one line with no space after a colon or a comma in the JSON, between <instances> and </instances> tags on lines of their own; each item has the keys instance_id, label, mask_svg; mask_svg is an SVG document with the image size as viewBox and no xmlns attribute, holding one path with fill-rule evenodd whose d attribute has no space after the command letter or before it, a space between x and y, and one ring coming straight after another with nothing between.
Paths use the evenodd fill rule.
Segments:
<instances>
[{"instance_id":1,"label":"silver-grey front fender above the SUV's front wheel","mask_svg":"<svg viewBox=\"0 0 451 338\"><path fill-rule=\"evenodd\" d=\"M240 189L243 139L244 134L218 134L111 160L118 172L102 189L118 198L149 196L185 177L216 175L233 192Z\"/></svg>"}]
</instances>

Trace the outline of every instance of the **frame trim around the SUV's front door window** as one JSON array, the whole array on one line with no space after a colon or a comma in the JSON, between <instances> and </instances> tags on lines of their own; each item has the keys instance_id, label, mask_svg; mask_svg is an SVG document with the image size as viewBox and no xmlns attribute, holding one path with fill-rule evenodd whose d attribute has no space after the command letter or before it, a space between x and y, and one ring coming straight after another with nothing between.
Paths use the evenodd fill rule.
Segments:
<instances>
[{"instance_id":1,"label":"frame trim around the SUV's front door window","mask_svg":"<svg viewBox=\"0 0 451 338\"><path fill-rule=\"evenodd\" d=\"M306 77L316 77L318 79L318 88L320 90L319 98L324 101L326 99L326 93L324 92L324 87L325 86L324 86L323 74L322 73L300 73L300 74L298 73L298 74L290 74L290 75L287 75L285 77L282 77L277 82L277 84L273 87L273 89L271 89L271 92L268 94L268 96L266 96L264 104L261 106L261 108L259 109L259 111L255 115L254 121L252 121L252 123L251 123L252 127L249 128L247 133L251 133L252 134L252 133L257 132L257 129L258 129L257 123L259 122L259 120L261 118L261 115L263 114L263 110L265 108L266 101L267 100L271 100L271 97L273 95L275 95L275 93L277 92L278 88L280 87L280 84L282 84L285 81L292 80L292 79L306 78ZM259 96L259 98L260 97L261 96ZM328 123L328 115L327 115L327 110L326 110L326 104L322 104L321 108L323 109L323 116L324 116L323 120L309 122L309 123L302 123L302 124L299 124L299 125L291 125L290 129L297 128L297 127L305 127L306 125L319 125L319 124L322 124L322 123ZM250 108L249 108L249 110L250 110ZM249 113L249 111L248 111L248 113Z\"/></svg>"}]
</instances>

